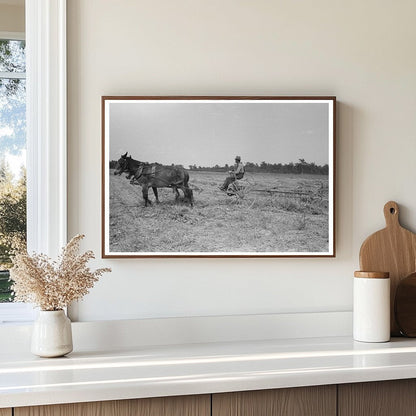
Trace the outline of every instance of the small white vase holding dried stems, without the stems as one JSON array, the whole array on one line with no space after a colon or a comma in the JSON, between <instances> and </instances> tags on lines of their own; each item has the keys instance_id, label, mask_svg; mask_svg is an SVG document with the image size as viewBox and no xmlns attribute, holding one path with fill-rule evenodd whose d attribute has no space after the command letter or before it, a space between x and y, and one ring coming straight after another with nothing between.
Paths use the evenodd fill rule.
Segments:
<instances>
[{"instance_id":1,"label":"small white vase holding dried stems, without the stems","mask_svg":"<svg viewBox=\"0 0 416 416\"><path fill-rule=\"evenodd\" d=\"M71 321L63 310L40 311L33 325L31 351L39 357L62 357L72 351Z\"/></svg>"}]
</instances>

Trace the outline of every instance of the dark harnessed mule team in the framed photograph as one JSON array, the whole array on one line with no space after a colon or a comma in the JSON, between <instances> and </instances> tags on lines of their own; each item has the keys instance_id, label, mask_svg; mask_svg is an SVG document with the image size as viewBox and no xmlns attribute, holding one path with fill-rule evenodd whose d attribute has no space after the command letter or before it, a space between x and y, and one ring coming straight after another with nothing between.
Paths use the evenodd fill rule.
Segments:
<instances>
[{"instance_id":1,"label":"dark harnessed mule team in the framed photograph","mask_svg":"<svg viewBox=\"0 0 416 416\"><path fill-rule=\"evenodd\" d=\"M134 160L126 153L118 160L114 174L122 172L128 172L127 178L133 176L130 183L141 185L145 206L151 203L148 197L149 188L153 189L156 202L159 202L157 188L172 188L176 199L179 198L178 189L181 189L185 200L193 206L193 192L188 185L189 174L182 167L144 163Z\"/></svg>"}]
</instances>

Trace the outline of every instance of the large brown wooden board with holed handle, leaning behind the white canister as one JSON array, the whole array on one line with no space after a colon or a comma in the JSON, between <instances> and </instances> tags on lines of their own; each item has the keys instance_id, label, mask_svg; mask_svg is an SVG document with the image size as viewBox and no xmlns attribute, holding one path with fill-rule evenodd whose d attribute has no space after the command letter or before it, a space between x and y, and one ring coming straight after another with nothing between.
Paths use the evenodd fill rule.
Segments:
<instances>
[{"instance_id":1,"label":"large brown wooden board with holed handle, leaning behind the white canister","mask_svg":"<svg viewBox=\"0 0 416 416\"><path fill-rule=\"evenodd\" d=\"M394 298L401 279L416 271L416 234L399 222L399 206L390 201L384 205L386 228L370 235L360 250L362 271L390 273L390 328L391 335L400 335L394 319Z\"/></svg>"}]
</instances>

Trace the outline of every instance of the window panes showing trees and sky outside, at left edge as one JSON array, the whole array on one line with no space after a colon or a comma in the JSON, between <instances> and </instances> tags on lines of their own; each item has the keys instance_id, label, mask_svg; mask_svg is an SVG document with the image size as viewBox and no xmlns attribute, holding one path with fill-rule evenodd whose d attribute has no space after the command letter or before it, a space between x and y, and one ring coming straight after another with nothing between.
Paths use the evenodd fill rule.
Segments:
<instances>
[{"instance_id":1,"label":"window panes showing trees and sky outside, at left edge","mask_svg":"<svg viewBox=\"0 0 416 416\"><path fill-rule=\"evenodd\" d=\"M26 244L26 51L19 35L1 37L0 302L5 303L12 301L10 252L14 244Z\"/></svg>"}]
</instances>

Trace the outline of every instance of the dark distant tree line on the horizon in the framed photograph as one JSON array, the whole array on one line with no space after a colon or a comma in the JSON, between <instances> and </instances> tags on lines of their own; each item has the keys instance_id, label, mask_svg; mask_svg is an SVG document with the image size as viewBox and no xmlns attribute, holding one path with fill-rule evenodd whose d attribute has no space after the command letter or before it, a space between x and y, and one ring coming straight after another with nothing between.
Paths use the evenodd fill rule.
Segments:
<instances>
[{"instance_id":1,"label":"dark distant tree line on the horizon in the framed photograph","mask_svg":"<svg viewBox=\"0 0 416 416\"><path fill-rule=\"evenodd\" d=\"M110 169L115 169L117 165L116 160L110 161ZM183 165L175 165L172 163L171 166L177 166L186 169ZM245 162L244 167L246 172L258 172L258 173L292 173L292 174L312 174L312 175L328 175L329 166L317 165L314 162L307 162L305 159L299 159L298 162L293 163L268 163L268 162ZM232 165L226 163L223 166L197 166L188 165L190 171L208 171L208 172L228 172L232 168Z\"/></svg>"}]
</instances>

